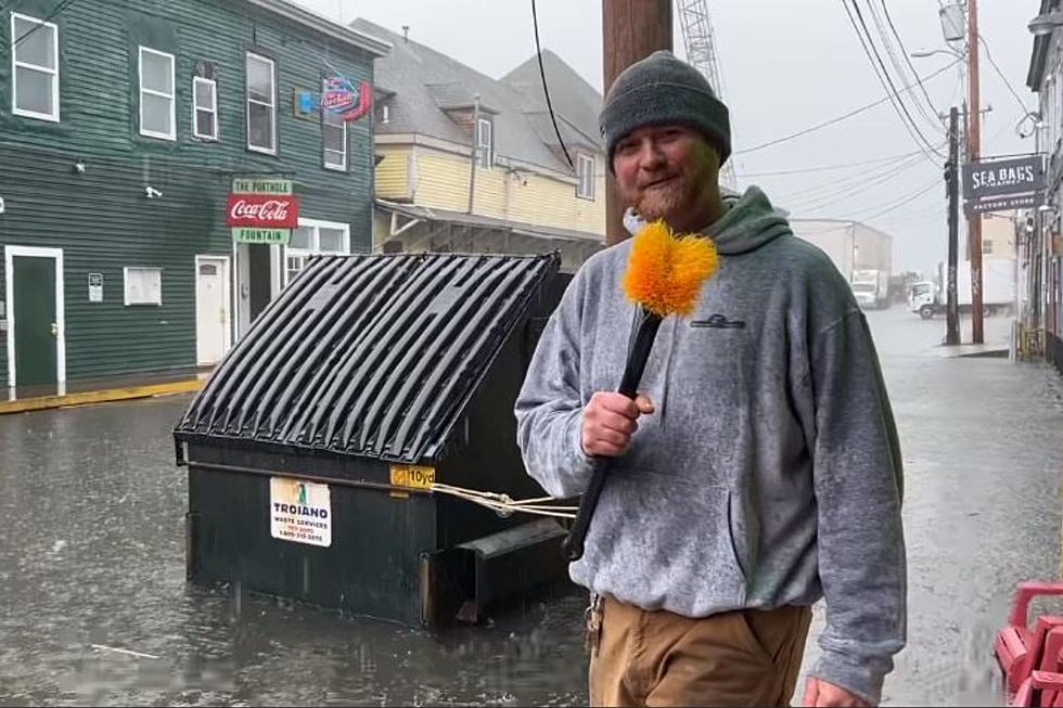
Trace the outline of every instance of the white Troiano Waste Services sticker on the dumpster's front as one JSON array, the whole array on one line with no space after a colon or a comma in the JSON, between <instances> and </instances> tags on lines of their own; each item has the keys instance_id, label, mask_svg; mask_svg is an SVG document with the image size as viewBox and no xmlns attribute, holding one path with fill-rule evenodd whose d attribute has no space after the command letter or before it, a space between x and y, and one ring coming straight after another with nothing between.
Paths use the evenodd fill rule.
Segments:
<instances>
[{"instance_id":1,"label":"white Troiano Waste Services sticker on the dumpster's front","mask_svg":"<svg viewBox=\"0 0 1063 708\"><path fill-rule=\"evenodd\" d=\"M328 485L270 477L270 536L282 541L332 545L332 501Z\"/></svg>"}]
</instances>

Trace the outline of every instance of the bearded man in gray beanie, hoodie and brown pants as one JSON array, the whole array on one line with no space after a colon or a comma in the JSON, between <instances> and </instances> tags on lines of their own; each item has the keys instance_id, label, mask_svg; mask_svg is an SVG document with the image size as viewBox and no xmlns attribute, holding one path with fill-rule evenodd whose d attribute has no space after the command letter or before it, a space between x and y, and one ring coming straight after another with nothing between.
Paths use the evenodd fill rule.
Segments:
<instances>
[{"instance_id":1,"label":"bearded man in gray beanie, hoodie and brown pants","mask_svg":"<svg viewBox=\"0 0 1063 708\"><path fill-rule=\"evenodd\" d=\"M630 241L589 259L516 402L529 473L555 497L616 458L574 581L590 589L595 705L786 705L827 600L804 701L879 701L905 643L901 460L871 335L828 257L764 193L721 197L727 107L668 52L601 115L620 196L713 239L692 318L662 324L630 401Z\"/></svg>"}]
</instances>

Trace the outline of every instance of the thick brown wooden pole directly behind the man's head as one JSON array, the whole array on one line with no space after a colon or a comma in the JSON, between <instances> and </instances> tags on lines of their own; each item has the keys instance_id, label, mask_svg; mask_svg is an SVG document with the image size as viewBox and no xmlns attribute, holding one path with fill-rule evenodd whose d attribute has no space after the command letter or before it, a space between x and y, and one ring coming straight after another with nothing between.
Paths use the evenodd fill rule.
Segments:
<instances>
[{"instance_id":1,"label":"thick brown wooden pole directly behind the man's head","mask_svg":"<svg viewBox=\"0 0 1063 708\"><path fill-rule=\"evenodd\" d=\"M671 50L673 0L602 0L602 53L605 93L616 77L631 64L653 52ZM606 167L605 244L628 237L624 228L624 205Z\"/></svg>"}]
</instances>

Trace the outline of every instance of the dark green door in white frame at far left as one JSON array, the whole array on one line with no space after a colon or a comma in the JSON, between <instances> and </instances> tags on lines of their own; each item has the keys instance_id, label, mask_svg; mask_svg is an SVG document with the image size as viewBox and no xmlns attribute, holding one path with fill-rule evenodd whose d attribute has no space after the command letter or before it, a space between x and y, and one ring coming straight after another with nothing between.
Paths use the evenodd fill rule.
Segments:
<instances>
[{"instance_id":1,"label":"dark green door in white frame at far left","mask_svg":"<svg viewBox=\"0 0 1063 708\"><path fill-rule=\"evenodd\" d=\"M15 384L59 383L60 325L55 302L55 260L13 256L12 305Z\"/></svg>"}]
</instances>

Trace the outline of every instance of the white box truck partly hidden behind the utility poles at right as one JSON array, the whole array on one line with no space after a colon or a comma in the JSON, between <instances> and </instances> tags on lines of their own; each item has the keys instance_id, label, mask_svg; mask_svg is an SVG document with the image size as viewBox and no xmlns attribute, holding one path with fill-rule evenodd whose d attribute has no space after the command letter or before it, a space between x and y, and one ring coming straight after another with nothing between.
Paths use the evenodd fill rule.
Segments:
<instances>
[{"instance_id":1,"label":"white box truck partly hidden behind the utility poles at right","mask_svg":"<svg viewBox=\"0 0 1063 708\"><path fill-rule=\"evenodd\" d=\"M945 263L938 263L937 282L912 283L908 295L908 309L924 320L944 313L948 308L946 287L948 276ZM971 261L965 260L956 269L956 294L961 312L971 311ZM1015 301L1015 261L989 259L982 261L982 304L986 317L1009 311Z\"/></svg>"}]
</instances>

